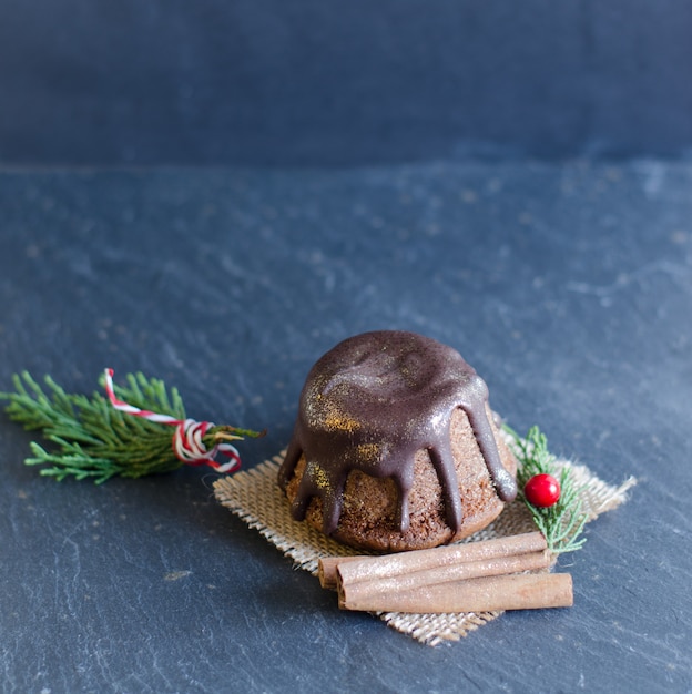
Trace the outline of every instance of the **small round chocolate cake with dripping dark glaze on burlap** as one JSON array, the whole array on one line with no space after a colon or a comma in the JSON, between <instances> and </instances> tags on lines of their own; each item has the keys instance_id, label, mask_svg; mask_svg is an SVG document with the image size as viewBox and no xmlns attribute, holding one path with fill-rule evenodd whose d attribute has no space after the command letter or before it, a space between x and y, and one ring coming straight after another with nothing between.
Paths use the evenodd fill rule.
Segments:
<instances>
[{"instance_id":1,"label":"small round chocolate cake with dripping dark glaze on burlap","mask_svg":"<svg viewBox=\"0 0 692 694\"><path fill-rule=\"evenodd\" d=\"M467 537L517 493L484 380L404 331L344 340L311 369L278 482L296 520L356 548Z\"/></svg>"}]
</instances>

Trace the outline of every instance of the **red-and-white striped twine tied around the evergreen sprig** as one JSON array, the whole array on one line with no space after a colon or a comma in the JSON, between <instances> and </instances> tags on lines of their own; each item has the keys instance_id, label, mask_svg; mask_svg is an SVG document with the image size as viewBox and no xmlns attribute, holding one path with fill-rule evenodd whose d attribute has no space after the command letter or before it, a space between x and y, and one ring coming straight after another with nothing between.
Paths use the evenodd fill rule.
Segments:
<instances>
[{"instance_id":1,"label":"red-and-white striped twine tied around the evergreen sprig","mask_svg":"<svg viewBox=\"0 0 692 694\"><path fill-rule=\"evenodd\" d=\"M175 419L175 417L171 417L170 415L151 412L119 400L113 389L113 369L105 369L105 391L111 405L121 412L175 427L175 432L173 433L173 452L184 463L192 466L207 465L218 472L233 472L241 467L241 456L235 446L226 441L220 441L211 450L204 446L204 435L214 426L211 421ZM226 456L230 459L228 462L223 465L216 462L214 457L217 453Z\"/></svg>"}]
</instances>

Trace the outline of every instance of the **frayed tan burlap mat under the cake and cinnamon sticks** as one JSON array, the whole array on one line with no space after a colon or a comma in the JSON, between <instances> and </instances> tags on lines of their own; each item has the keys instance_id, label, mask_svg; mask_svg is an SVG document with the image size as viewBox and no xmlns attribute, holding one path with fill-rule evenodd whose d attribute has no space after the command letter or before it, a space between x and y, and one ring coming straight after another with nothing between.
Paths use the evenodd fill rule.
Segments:
<instances>
[{"instance_id":1,"label":"frayed tan burlap mat under the cake and cinnamon sticks","mask_svg":"<svg viewBox=\"0 0 692 694\"><path fill-rule=\"evenodd\" d=\"M246 472L236 472L233 477L221 478L214 483L214 492L223 506L251 528L256 528L284 554L291 557L298 568L316 576L320 558L355 554L356 551L330 540L307 523L293 520L288 502L276 483L276 474L282 460L283 453ZM630 478L620 487L611 487L598 479L584 466L567 460L557 462L559 466L571 467L576 484L583 487L583 510L588 513L589 520L623 503L627 500L627 490L635 483L634 478ZM526 506L517 501L509 504L491 525L464 542L489 540L535 529ZM334 604L336 609L336 594ZM378 613L377 616L389 626L413 636L420 643L437 645L444 641L458 641L500 614L502 613L405 614L386 612Z\"/></svg>"}]
</instances>

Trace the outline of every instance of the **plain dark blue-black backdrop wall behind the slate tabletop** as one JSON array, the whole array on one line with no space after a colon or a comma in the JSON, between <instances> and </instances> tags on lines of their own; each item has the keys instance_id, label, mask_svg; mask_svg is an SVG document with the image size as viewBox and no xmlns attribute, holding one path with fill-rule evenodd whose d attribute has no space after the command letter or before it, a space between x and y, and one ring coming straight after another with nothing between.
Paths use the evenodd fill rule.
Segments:
<instances>
[{"instance_id":1,"label":"plain dark blue-black backdrop wall behind the slate tabletop","mask_svg":"<svg viewBox=\"0 0 692 694\"><path fill-rule=\"evenodd\" d=\"M680 0L0 3L0 161L692 152Z\"/></svg>"}]
</instances>

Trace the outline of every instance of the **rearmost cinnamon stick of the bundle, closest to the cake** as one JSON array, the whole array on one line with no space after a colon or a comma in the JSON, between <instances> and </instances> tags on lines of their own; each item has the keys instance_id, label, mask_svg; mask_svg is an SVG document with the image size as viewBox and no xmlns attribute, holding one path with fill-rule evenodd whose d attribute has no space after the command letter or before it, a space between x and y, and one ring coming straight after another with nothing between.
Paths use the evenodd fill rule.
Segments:
<instances>
[{"instance_id":1,"label":"rearmost cinnamon stick of the bundle, closest to the cake","mask_svg":"<svg viewBox=\"0 0 692 694\"><path fill-rule=\"evenodd\" d=\"M449 544L429 550L415 550L381 557L346 557L337 558L334 561L323 560L320 571L324 575L323 585L336 584L335 568L338 568L343 583L354 584L360 581L409 575L418 571L472 561L542 552L546 548L546 538L540 532L528 532L508 538ZM509 572L506 571L505 573Z\"/></svg>"}]
</instances>

